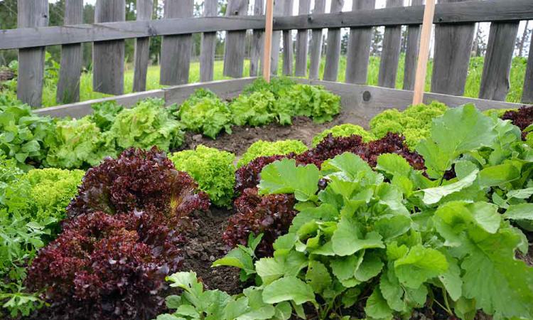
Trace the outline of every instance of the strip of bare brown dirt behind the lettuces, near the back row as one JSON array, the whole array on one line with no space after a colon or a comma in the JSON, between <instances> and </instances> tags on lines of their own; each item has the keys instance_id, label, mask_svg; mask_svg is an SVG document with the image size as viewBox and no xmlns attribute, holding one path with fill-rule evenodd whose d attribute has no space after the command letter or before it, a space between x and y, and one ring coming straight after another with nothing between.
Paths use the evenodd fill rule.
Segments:
<instances>
[{"instance_id":1,"label":"strip of bare brown dirt behind the lettuces, near the back row","mask_svg":"<svg viewBox=\"0 0 533 320\"><path fill-rule=\"evenodd\" d=\"M244 154L250 144L257 140L276 141L286 139L298 139L304 144L311 146L313 137L325 129L329 129L338 124L345 123L344 114L340 114L332 122L323 124L314 123L308 117L296 117L293 119L291 126L282 126L281 124L268 124L263 127L233 127L232 134L219 134L216 140L203 137L201 134L185 134L185 143L181 146L183 149L194 149L198 144L210 146L220 150L230 151L237 156ZM367 124L360 123L362 127Z\"/></svg>"}]
</instances>

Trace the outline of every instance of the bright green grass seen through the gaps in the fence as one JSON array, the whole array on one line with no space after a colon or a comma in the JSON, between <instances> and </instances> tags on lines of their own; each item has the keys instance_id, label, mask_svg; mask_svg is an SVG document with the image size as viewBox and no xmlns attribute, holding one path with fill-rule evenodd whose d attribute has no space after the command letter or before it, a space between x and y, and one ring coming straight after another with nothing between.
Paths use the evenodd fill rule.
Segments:
<instances>
[{"instance_id":1,"label":"bright green grass seen through the gaps in the fence","mask_svg":"<svg viewBox=\"0 0 533 320\"><path fill-rule=\"evenodd\" d=\"M522 87L524 83L524 75L526 70L527 59L515 58L512 60L512 68L510 73L510 91L507 95L507 102L520 102L522 97ZM431 70L433 69L433 63L430 61L428 65L428 75L426 78L426 91L431 87ZM215 80L229 79L222 75L223 62L215 61ZM323 75L324 60L321 63L321 76ZM346 70L346 58L345 56L340 58L340 68L338 81L344 82ZM377 85L377 77L379 73L379 57L371 57L370 65L368 68L368 84ZM131 92L133 85L133 68L131 65L127 65L124 73L124 93ZM281 75L281 59L279 63L279 75ZM470 59L470 68L468 70L468 78L465 85L465 97L478 97L480 89L481 75L483 74L483 58L476 57ZM244 75L249 75L249 61L244 63ZM189 82L198 82L200 77L200 64L198 62L190 64ZM404 58L402 57L399 62L396 87L401 89L404 80ZM154 65L149 67L148 74L146 76L146 90L154 90L163 87L159 85L159 66ZM48 81L43 88L43 106L49 107L57 105L55 103L55 91L56 83L54 81ZM14 94L14 92L9 92ZM92 74L84 73L80 80L80 100L92 100L101 97L109 97L99 92L92 90Z\"/></svg>"}]
</instances>

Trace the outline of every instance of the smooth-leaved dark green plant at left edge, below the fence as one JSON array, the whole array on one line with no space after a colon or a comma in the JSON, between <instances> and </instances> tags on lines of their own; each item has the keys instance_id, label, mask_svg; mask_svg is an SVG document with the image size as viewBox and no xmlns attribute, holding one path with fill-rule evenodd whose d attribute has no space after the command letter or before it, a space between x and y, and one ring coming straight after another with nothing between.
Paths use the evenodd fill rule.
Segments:
<instances>
[{"instance_id":1,"label":"smooth-leaved dark green plant at left edge, below the fence","mask_svg":"<svg viewBox=\"0 0 533 320\"><path fill-rule=\"evenodd\" d=\"M48 140L54 135L52 119L33 114L28 105L2 100L0 156L16 159L24 170L38 166L45 159Z\"/></svg>"}]
</instances>

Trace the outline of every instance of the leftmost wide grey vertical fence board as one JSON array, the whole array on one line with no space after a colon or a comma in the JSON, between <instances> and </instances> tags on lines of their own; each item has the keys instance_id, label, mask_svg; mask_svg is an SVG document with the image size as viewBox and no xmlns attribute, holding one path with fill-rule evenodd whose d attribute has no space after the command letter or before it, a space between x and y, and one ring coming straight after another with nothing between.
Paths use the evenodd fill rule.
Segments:
<instances>
[{"instance_id":1,"label":"leftmost wide grey vertical fence board","mask_svg":"<svg viewBox=\"0 0 533 320\"><path fill-rule=\"evenodd\" d=\"M18 0L17 26L48 26L48 0ZM17 97L32 107L43 98L45 47L18 50Z\"/></svg>"}]
</instances>

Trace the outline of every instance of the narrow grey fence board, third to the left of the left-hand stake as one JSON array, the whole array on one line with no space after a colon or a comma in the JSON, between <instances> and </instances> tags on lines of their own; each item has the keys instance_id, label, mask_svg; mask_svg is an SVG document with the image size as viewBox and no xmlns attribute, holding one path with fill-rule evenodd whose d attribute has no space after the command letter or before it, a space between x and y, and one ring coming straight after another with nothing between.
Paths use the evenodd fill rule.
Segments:
<instances>
[{"instance_id":1,"label":"narrow grey fence board, third to the left of the left-hand stake","mask_svg":"<svg viewBox=\"0 0 533 320\"><path fill-rule=\"evenodd\" d=\"M217 0L205 0L203 16L217 16ZM212 81L215 73L215 48L217 46L217 33L202 33L200 44L200 81Z\"/></svg>"}]
</instances>

